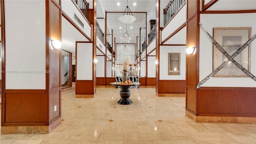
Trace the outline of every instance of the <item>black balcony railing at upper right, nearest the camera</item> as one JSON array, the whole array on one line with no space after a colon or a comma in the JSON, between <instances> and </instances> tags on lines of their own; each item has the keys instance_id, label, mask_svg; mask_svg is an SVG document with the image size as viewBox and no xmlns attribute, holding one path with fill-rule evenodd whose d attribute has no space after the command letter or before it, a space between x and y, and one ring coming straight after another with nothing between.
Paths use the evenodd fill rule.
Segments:
<instances>
[{"instance_id":1,"label":"black balcony railing at upper right, nearest the camera","mask_svg":"<svg viewBox=\"0 0 256 144\"><path fill-rule=\"evenodd\" d=\"M164 26L169 22L184 2L186 2L186 0L170 0L164 9Z\"/></svg>"}]
</instances>

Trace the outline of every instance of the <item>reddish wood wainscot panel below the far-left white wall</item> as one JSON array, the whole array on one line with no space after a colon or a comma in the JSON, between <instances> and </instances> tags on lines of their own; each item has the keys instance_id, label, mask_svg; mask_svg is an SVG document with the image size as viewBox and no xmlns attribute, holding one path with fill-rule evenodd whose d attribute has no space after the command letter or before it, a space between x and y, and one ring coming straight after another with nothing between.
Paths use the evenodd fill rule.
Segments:
<instances>
[{"instance_id":1,"label":"reddish wood wainscot panel below the far-left white wall","mask_svg":"<svg viewBox=\"0 0 256 144\"><path fill-rule=\"evenodd\" d=\"M46 90L5 90L2 126L48 126Z\"/></svg>"}]
</instances>

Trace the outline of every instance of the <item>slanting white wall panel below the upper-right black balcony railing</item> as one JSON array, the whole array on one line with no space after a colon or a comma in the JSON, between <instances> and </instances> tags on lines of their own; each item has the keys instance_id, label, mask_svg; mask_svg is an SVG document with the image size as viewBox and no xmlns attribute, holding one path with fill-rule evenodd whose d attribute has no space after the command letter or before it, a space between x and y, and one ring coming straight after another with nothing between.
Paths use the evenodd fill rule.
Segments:
<instances>
[{"instance_id":1,"label":"slanting white wall panel below the upper-right black balcony railing","mask_svg":"<svg viewBox=\"0 0 256 144\"><path fill-rule=\"evenodd\" d=\"M165 26L162 30L162 41L165 40L170 34L172 34L175 30L177 30L182 24L186 22L186 6L182 7L182 9L172 18L172 20Z\"/></svg>"}]
</instances>

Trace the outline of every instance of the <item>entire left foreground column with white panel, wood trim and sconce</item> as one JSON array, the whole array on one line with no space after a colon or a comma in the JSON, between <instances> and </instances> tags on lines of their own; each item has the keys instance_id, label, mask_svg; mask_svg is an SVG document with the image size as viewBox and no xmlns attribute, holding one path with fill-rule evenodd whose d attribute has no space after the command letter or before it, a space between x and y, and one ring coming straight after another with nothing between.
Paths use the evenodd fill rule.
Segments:
<instances>
[{"instance_id":1,"label":"entire left foreground column with white panel, wood trim and sconce","mask_svg":"<svg viewBox=\"0 0 256 144\"><path fill-rule=\"evenodd\" d=\"M2 73L1 134L49 133L61 123L61 50L53 49L50 43L61 41L60 0L4 0L0 4L2 70L16 71ZM20 12L24 6L28 10ZM19 17L22 22L15 22ZM26 32L20 32L19 27Z\"/></svg>"}]
</instances>

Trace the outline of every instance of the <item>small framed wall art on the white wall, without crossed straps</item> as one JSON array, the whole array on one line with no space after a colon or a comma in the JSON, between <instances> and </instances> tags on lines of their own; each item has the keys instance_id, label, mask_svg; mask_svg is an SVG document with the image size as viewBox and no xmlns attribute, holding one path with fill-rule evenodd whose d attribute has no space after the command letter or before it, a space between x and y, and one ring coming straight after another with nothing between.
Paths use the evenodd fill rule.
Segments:
<instances>
[{"instance_id":1,"label":"small framed wall art on the white wall, without crossed straps","mask_svg":"<svg viewBox=\"0 0 256 144\"><path fill-rule=\"evenodd\" d=\"M168 53L168 75L180 75L180 53Z\"/></svg>"}]
</instances>

